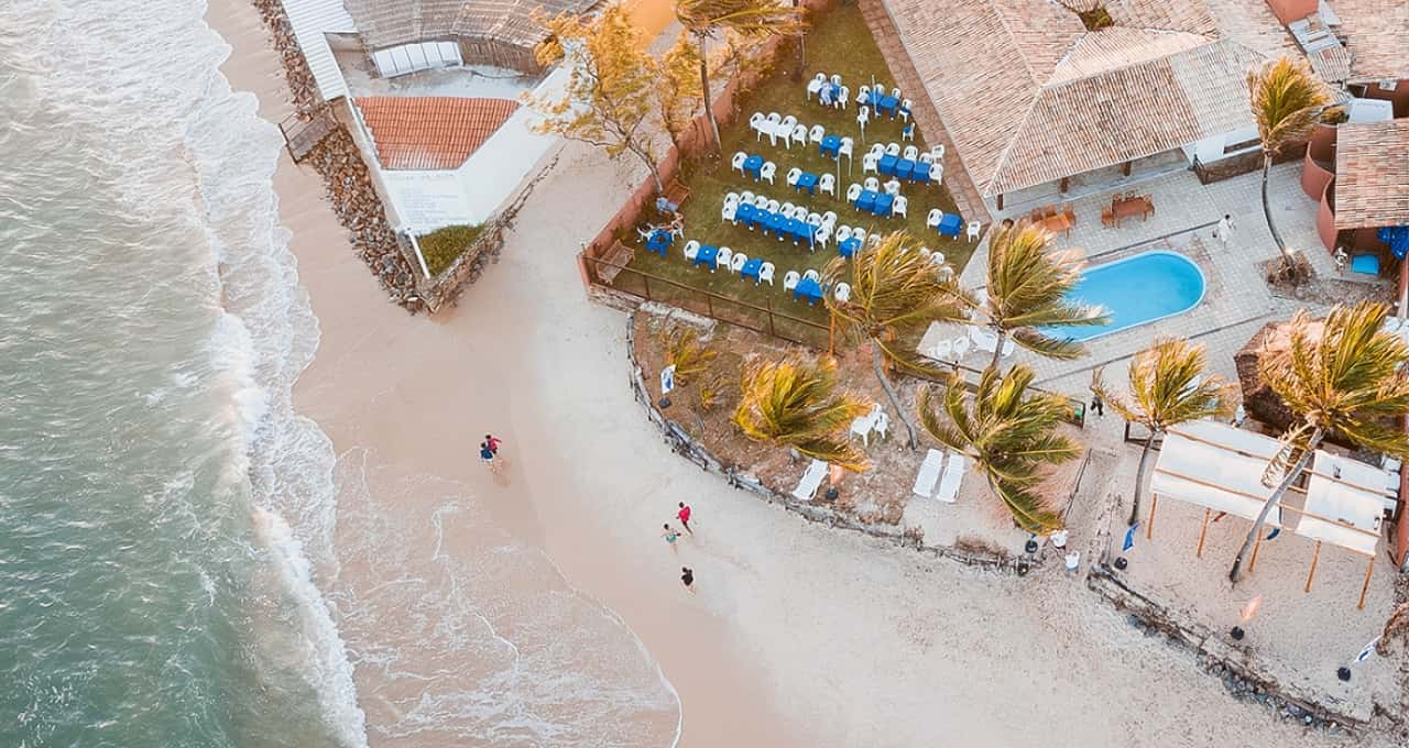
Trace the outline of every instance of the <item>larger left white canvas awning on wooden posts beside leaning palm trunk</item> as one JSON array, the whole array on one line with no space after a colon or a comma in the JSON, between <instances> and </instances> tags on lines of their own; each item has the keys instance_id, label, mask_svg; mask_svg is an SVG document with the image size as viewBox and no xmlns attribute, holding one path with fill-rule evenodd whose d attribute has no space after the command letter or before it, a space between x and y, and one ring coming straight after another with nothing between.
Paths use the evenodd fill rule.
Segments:
<instances>
[{"instance_id":1,"label":"larger left white canvas awning on wooden posts beside leaning palm trunk","mask_svg":"<svg viewBox=\"0 0 1409 748\"><path fill-rule=\"evenodd\" d=\"M1255 520L1272 489L1262 485L1281 442L1215 421L1182 424L1164 437L1150 492L1213 511ZM1267 524L1282 525L1277 507Z\"/></svg>"}]
</instances>

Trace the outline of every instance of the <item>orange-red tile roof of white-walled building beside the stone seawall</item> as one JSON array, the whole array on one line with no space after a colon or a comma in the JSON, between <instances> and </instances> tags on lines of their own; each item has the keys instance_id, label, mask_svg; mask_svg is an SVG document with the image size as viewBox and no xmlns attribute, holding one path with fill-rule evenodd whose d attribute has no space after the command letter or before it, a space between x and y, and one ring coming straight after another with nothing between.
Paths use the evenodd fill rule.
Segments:
<instances>
[{"instance_id":1,"label":"orange-red tile roof of white-walled building beside the stone seawall","mask_svg":"<svg viewBox=\"0 0 1409 748\"><path fill-rule=\"evenodd\" d=\"M519 108L513 99L358 97L386 169L457 169Z\"/></svg>"}]
</instances>

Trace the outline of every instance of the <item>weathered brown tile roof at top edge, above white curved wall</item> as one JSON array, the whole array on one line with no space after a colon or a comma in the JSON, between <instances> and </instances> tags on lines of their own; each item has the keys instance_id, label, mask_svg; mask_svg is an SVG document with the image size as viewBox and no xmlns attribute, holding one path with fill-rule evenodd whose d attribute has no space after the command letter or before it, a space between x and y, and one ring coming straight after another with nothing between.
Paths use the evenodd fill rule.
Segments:
<instances>
[{"instance_id":1,"label":"weathered brown tile roof at top edge, above white curved wall","mask_svg":"<svg viewBox=\"0 0 1409 748\"><path fill-rule=\"evenodd\" d=\"M582 13L600 0L345 0L362 42L372 49L452 38L495 39L531 48L544 38L530 20L547 14Z\"/></svg>"}]
</instances>

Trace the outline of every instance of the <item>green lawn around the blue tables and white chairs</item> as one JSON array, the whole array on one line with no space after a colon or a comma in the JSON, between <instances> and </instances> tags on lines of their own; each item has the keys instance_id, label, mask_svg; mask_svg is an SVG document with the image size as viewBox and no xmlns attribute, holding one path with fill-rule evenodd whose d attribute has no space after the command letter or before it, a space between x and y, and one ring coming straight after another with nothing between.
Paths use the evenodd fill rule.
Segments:
<instances>
[{"instance_id":1,"label":"green lawn around the blue tables and white chairs","mask_svg":"<svg viewBox=\"0 0 1409 748\"><path fill-rule=\"evenodd\" d=\"M681 211L685 214L685 239L697 239L700 244L713 244L716 247L728 247L735 252L744 252L748 256L762 256L768 262L776 266L776 280L775 286L769 287L766 283L762 286L755 286L751 280L741 280L733 273L726 273L719 270L710 273L704 268L692 268L682 254L683 241L676 241L669 249L666 258L659 255L645 252L644 248L637 249L635 259L631 261L630 268L640 269L641 272L661 276L676 283L682 283L690 287L709 290L721 296L731 299L738 299L750 304L757 304L759 307L772 306L778 311L793 314L797 317L816 320L819 323L826 323L826 313L819 304L816 308L809 308L803 303L795 303L790 294L785 294L782 289L783 275L788 270L803 272L809 268L821 269L831 258L837 256L837 244L833 241L827 248L817 247L816 252L809 252L806 247L793 247L792 242L779 242L776 238L764 237L759 231L750 231L743 225L733 227L720 220L720 208L723 207L724 194L728 192L743 192L752 190L755 194L766 194L768 197L776 199L779 203L795 203L809 206L809 210L817 213L826 213L828 210L837 213L837 225L852 225L862 227L867 232L872 231L909 231L920 244L944 252L944 255L954 263L955 269L961 269L968 261L972 252L971 244L964 239L948 239L940 237L934 230L926 230L924 218L930 208L938 207L945 213L957 213L954 207L954 200L945 187L938 185L913 185L909 182L902 182L900 194L909 197L909 217L890 217L882 218L872 216L869 213L859 213L854 207L845 203L847 186L852 182L862 182L861 175L861 156L874 142L902 142L900 128L903 127L902 120L875 120L872 118L867 124L867 137L862 142L861 128L855 121L857 106L852 101L847 108L837 110L830 107L823 107L817 103L816 96L812 101L805 101L806 99L806 82L813 75L824 72L830 75L840 75L843 83L851 89L852 99L857 94L857 89L861 85L869 85L872 76L875 76L878 83L883 83L886 89L895 87L895 77L890 75L885 59L881 56L879 48L876 48L875 41L871 38L871 32L861 18L861 10L854 4L837 6L833 10L817 14L813 17L814 25L807 34L806 49L807 49L807 65L806 75L802 80L792 80L790 69L793 63L793 54L783 52L778 69L768 76L757 90L744 97L740 106L740 116L735 123L727 128L723 128L721 137L724 141L723 159L706 159L703 162L690 163L686 166L682 175L682 182L690 187L692 193L689 200ZM902 92L903 97L919 99L923 92ZM817 193L816 197L807 196L806 193L793 192L788 187L785 175L788 169L797 166L805 172L821 173L836 173L837 165L833 159L826 158L817 152L817 147L800 147L793 145L792 149L783 148L782 142L776 147L768 144L768 138L762 141L755 138L755 132L748 127L748 116L754 111L761 111L768 114L769 111L778 111L783 117L793 114L802 124L809 128L812 125L823 125L828 134L837 134L843 137L852 137L855 139L855 163L852 165L851 175L847 173L847 161L841 161L841 179L838 180L838 199L830 194ZM907 142L902 142L907 145ZM916 134L914 145L923 152L929 147L924 144L921 134ZM778 165L776 186L768 185L768 182L755 183L752 177L744 177L737 170L730 169L730 156L737 151L744 151L747 154L758 154L764 156L765 161L772 161ZM889 177L881 177L883 183ZM644 221L655 220L654 210L647 210ZM634 241L634 237L633 237ZM630 272L623 272L616 279L616 285L628 289L640 290L641 285L640 276ZM703 297L697 294L688 294L672 287L661 287L664 283L655 283L651 286L651 294L657 299L676 300L682 306L689 308L703 308ZM674 299L674 294L693 296L692 299ZM689 303L686 303L689 301ZM731 318L733 314L744 314L750 320L757 323L758 316L748 316L747 310L730 310L730 314L721 314L714 310L716 316L724 316Z\"/></svg>"}]
</instances>

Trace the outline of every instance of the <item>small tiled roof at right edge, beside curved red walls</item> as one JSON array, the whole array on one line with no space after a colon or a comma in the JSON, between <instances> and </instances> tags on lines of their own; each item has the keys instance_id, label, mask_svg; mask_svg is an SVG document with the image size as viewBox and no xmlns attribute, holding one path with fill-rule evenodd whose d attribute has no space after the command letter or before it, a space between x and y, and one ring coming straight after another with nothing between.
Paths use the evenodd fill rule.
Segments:
<instances>
[{"instance_id":1,"label":"small tiled roof at right edge, beside curved red walls","mask_svg":"<svg viewBox=\"0 0 1409 748\"><path fill-rule=\"evenodd\" d=\"M1336 228L1409 225L1409 120L1336 132Z\"/></svg>"}]
</instances>

